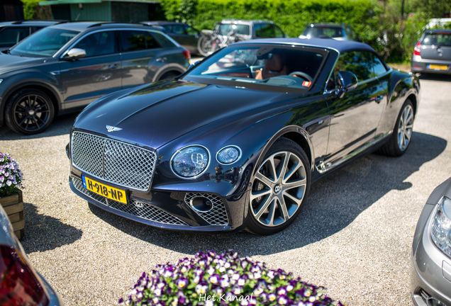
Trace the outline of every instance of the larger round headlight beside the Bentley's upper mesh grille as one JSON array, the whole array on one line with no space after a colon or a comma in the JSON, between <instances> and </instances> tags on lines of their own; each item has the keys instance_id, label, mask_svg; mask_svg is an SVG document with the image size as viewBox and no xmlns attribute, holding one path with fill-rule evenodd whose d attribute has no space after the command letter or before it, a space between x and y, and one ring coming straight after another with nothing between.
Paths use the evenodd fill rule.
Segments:
<instances>
[{"instance_id":1,"label":"larger round headlight beside the Bentley's upper mesh grille","mask_svg":"<svg viewBox=\"0 0 451 306\"><path fill-rule=\"evenodd\" d=\"M195 179L207 168L210 154L206 147L192 145L179 149L172 156L172 170L182 178Z\"/></svg>"}]
</instances>

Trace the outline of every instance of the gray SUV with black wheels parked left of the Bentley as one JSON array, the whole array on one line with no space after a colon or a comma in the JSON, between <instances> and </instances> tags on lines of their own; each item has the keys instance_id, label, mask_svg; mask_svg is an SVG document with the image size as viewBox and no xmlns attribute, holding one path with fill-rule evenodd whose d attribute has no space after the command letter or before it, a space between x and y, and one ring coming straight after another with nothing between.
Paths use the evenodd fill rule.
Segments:
<instances>
[{"instance_id":1,"label":"gray SUV with black wheels parked left of the Bentley","mask_svg":"<svg viewBox=\"0 0 451 306\"><path fill-rule=\"evenodd\" d=\"M96 98L189 67L189 51L164 33L130 23L62 23L0 53L0 126L24 135Z\"/></svg>"}]
</instances>

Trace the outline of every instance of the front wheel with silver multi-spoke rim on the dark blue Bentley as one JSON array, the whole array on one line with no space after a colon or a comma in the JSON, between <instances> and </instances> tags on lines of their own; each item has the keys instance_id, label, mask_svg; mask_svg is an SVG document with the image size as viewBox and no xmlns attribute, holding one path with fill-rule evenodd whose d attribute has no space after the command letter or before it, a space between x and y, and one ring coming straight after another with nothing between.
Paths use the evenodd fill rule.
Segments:
<instances>
[{"instance_id":1,"label":"front wheel with silver multi-spoke rim on the dark blue Bentley","mask_svg":"<svg viewBox=\"0 0 451 306\"><path fill-rule=\"evenodd\" d=\"M304 207L310 183L304 150L293 140L279 138L252 181L246 230L267 235L288 227Z\"/></svg>"}]
</instances>

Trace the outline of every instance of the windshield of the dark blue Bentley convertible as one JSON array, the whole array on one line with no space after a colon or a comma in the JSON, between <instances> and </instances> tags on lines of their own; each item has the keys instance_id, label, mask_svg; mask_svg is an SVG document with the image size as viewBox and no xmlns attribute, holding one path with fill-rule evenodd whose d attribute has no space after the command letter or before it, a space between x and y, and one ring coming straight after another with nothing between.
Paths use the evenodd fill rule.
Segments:
<instances>
[{"instance_id":1,"label":"windshield of the dark blue Bentley convertible","mask_svg":"<svg viewBox=\"0 0 451 306\"><path fill-rule=\"evenodd\" d=\"M183 79L269 91L306 91L327 51L306 47L243 45L226 47L191 69Z\"/></svg>"}]
</instances>

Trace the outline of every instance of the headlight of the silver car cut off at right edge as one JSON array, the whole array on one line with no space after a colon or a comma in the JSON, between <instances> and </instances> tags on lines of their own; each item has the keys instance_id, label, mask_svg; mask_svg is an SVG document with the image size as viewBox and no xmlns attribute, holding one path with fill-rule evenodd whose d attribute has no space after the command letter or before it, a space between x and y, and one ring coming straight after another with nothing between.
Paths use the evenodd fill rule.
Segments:
<instances>
[{"instance_id":1,"label":"headlight of the silver car cut off at right edge","mask_svg":"<svg viewBox=\"0 0 451 306\"><path fill-rule=\"evenodd\" d=\"M451 200L449 198L444 197L438 203L430 236L443 253L451 256Z\"/></svg>"}]
</instances>

